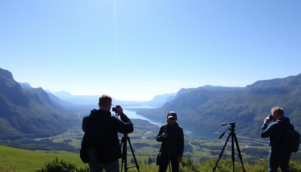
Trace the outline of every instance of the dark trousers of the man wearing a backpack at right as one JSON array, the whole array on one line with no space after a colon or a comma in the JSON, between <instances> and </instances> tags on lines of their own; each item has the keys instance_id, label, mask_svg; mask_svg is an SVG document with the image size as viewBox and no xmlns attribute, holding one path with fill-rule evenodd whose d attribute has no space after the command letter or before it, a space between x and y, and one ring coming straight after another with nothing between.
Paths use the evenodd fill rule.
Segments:
<instances>
[{"instance_id":1,"label":"dark trousers of the man wearing a backpack at right","mask_svg":"<svg viewBox=\"0 0 301 172\"><path fill-rule=\"evenodd\" d=\"M269 172L277 172L278 167L282 172L290 172L289 162L291 154L270 153L268 155L268 170Z\"/></svg>"}]
</instances>

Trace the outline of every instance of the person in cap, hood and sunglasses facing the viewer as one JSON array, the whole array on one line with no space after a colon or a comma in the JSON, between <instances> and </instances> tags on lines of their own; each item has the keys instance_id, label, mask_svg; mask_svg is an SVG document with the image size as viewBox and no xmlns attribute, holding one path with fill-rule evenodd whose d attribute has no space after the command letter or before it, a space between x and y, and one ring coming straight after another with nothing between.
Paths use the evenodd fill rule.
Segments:
<instances>
[{"instance_id":1,"label":"person in cap, hood and sunglasses facing the viewer","mask_svg":"<svg viewBox=\"0 0 301 172\"><path fill-rule=\"evenodd\" d=\"M177 114L170 111L167 114L166 124L160 127L156 137L158 142L162 142L159 172L166 172L169 161L172 172L179 171L179 163L184 152L184 133L176 120Z\"/></svg>"}]
</instances>

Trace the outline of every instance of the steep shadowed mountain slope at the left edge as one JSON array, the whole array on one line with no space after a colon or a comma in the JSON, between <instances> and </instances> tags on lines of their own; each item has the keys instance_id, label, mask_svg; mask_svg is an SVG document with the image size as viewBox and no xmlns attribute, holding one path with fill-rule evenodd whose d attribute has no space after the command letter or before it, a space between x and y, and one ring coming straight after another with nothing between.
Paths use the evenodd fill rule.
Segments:
<instances>
[{"instance_id":1,"label":"steep shadowed mountain slope at the left edge","mask_svg":"<svg viewBox=\"0 0 301 172\"><path fill-rule=\"evenodd\" d=\"M42 88L22 88L12 73L2 68L0 109L0 140L53 136L79 121Z\"/></svg>"}]
</instances>

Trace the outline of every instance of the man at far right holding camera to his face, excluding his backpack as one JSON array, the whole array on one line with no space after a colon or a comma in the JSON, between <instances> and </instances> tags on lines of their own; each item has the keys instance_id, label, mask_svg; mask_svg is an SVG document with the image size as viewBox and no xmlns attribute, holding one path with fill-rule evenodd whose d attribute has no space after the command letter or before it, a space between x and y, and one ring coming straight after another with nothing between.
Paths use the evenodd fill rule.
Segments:
<instances>
[{"instance_id":1,"label":"man at far right holding camera to his face, excluding his backpack","mask_svg":"<svg viewBox=\"0 0 301 172\"><path fill-rule=\"evenodd\" d=\"M294 126L290 123L290 119L284 116L282 108L274 107L271 109L271 112L272 115L265 118L260 131L260 136L262 138L270 137L268 170L269 172L277 172L277 169L280 166L282 172L289 172L291 152L285 151L282 148L282 145L286 130L294 130ZM273 120L274 123L268 126L268 123L270 123L271 120Z\"/></svg>"}]
</instances>

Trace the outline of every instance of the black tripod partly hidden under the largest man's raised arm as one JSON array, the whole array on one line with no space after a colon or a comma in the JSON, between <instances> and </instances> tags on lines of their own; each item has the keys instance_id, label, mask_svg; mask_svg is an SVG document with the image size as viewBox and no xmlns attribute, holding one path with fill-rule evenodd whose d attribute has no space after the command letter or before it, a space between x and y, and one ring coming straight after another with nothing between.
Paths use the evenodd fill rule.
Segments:
<instances>
[{"instance_id":1,"label":"black tripod partly hidden under the largest man's raised arm","mask_svg":"<svg viewBox=\"0 0 301 172\"><path fill-rule=\"evenodd\" d=\"M132 151L132 154L133 154L133 157L134 157L134 160L135 160L135 166L132 166L132 167L136 167L138 172L140 172L139 170L139 165L137 163L137 160L136 160L136 157L135 157L135 154L134 154L134 151L133 151L133 148L132 148L132 144L130 142L130 138L128 136L128 134L123 134L123 137L121 139L121 143L120 143L120 149L121 149L121 146L123 144L123 149L122 149L122 158L121 158L121 172L122 172L122 168L124 166L124 172L127 172L128 171L128 168L132 168L132 167L127 167L127 164L126 164L126 141L129 142L129 145L130 145L130 148L131 148L131 151ZM124 163L124 164L123 164Z\"/></svg>"}]
</instances>

